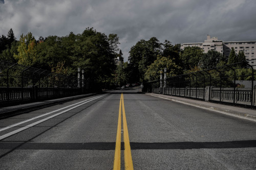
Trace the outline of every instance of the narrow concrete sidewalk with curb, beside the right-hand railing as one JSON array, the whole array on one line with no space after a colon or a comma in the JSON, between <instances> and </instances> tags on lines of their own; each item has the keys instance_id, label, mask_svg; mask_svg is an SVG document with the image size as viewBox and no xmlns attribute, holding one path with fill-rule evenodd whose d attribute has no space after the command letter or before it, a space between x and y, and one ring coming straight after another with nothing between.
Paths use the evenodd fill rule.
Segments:
<instances>
[{"instance_id":1,"label":"narrow concrete sidewalk with curb, beside the right-hand railing","mask_svg":"<svg viewBox=\"0 0 256 170\"><path fill-rule=\"evenodd\" d=\"M156 94L156 93L146 93L146 94L256 122L256 110L229 106L229 105L222 105L217 103L204 102L204 101L187 99L187 98L179 98L177 96L170 96L170 95L163 95L163 94Z\"/></svg>"}]
</instances>

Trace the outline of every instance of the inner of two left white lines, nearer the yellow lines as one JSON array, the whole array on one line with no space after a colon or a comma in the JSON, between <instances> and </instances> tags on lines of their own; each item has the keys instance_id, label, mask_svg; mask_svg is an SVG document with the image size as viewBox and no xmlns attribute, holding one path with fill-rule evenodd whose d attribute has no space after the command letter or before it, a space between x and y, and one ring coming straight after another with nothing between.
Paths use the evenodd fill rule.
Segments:
<instances>
[{"instance_id":1,"label":"inner of two left white lines, nearer the yellow lines","mask_svg":"<svg viewBox=\"0 0 256 170\"><path fill-rule=\"evenodd\" d=\"M108 93L108 94L109 94L109 93ZM104 95L106 95L106 94L104 94ZM104 96L104 95L98 96L98 97L95 98L95 99L101 98L101 97ZM81 105L84 105L84 104L86 104L86 103L88 103L88 102L91 102L91 101L93 101L93 100L95 100L95 99L92 99L92 100L90 100L90 101L81 103L81 104L79 104L79 105L77 105L77 106L74 106L74 107L69 108L69 109L67 109L67 110L63 110L62 112L56 113L56 114L51 115L51 116L49 116L49 117L46 117L46 118L44 118L44 119L38 120L37 122L34 122L34 123L30 124L30 125L27 125L27 126L25 126L25 127L22 127L22 128L19 128L19 129L15 130L15 131L9 132L9 133L7 133L7 134L5 134L5 135L2 135L2 136L0 136L0 140L2 140L2 139L4 139L4 138L7 138L7 137L9 137L9 136L11 136L11 135L14 135L14 134L16 134L16 133L18 133L18 132L21 132L21 131L23 131L23 130L26 130L26 129L30 128L30 127L33 127L33 126L35 126L35 125L38 125L38 124L40 124L40 123L42 123L42 122L45 122L46 120L49 120L50 118L56 117L56 116L58 116L58 115L60 115L60 114L62 114L62 113L65 113L65 112L67 112L67 111L70 111L70 110L72 110L72 109L74 109L74 108L77 108L77 107L79 107L79 106L81 106Z\"/></svg>"}]
</instances>

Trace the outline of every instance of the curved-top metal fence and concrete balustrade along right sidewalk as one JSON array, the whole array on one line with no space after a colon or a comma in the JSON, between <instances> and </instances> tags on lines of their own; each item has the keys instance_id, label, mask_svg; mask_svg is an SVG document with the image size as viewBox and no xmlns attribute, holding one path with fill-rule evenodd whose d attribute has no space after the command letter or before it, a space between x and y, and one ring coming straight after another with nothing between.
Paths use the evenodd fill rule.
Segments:
<instances>
[{"instance_id":1,"label":"curved-top metal fence and concrete balustrade along right sidewalk","mask_svg":"<svg viewBox=\"0 0 256 170\"><path fill-rule=\"evenodd\" d=\"M145 83L148 92L255 108L256 60Z\"/></svg>"}]
</instances>

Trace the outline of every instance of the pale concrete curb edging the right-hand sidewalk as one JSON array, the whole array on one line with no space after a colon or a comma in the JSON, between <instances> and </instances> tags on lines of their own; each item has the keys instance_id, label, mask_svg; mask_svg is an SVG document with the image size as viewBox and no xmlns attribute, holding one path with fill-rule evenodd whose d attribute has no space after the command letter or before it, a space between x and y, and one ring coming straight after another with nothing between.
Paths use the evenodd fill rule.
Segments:
<instances>
[{"instance_id":1,"label":"pale concrete curb edging the right-hand sidewalk","mask_svg":"<svg viewBox=\"0 0 256 170\"><path fill-rule=\"evenodd\" d=\"M171 99L171 98L167 98L167 96L162 97L162 96L155 95L155 94L152 94L152 93L146 93L146 94L151 95L151 96L155 96L157 98L162 98L162 99L182 103L182 104L185 104L185 105L194 106L194 107L198 107L198 108L206 109L206 110L210 110L210 111L215 111L215 112L218 112L218 113L222 113L222 114L226 114L226 115L230 115L230 116L234 116L234 117L239 117L239 118L243 118L243 119L246 119L246 120L251 120L253 122L256 122L256 116L250 115L250 114L247 114L247 113L236 112L236 111L232 111L232 110L225 110L225 109L218 108L218 107L212 107L212 106L197 104L197 103L193 103L193 102Z\"/></svg>"}]
</instances>

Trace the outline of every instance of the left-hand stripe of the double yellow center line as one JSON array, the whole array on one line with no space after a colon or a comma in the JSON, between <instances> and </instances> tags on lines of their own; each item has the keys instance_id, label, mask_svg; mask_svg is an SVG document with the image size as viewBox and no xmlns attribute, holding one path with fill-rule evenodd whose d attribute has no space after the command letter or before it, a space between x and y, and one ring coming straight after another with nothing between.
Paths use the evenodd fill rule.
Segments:
<instances>
[{"instance_id":1,"label":"left-hand stripe of the double yellow center line","mask_svg":"<svg viewBox=\"0 0 256 170\"><path fill-rule=\"evenodd\" d=\"M120 170L121 168L121 105L122 105L122 95L119 104L119 114L118 114L118 124L116 133L116 149L115 149L115 159L114 159L114 170Z\"/></svg>"}]
</instances>

